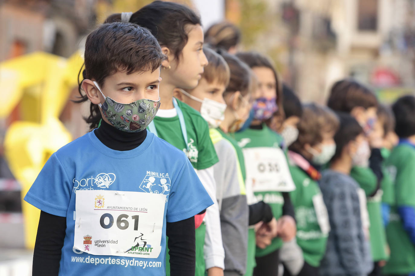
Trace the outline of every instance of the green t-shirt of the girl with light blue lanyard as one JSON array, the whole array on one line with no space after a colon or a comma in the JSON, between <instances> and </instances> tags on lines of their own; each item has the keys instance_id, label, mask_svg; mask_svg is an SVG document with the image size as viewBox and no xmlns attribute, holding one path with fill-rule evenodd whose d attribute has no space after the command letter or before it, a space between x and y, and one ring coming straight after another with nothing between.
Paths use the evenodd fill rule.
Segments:
<instances>
[{"instance_id":1,"label":"green t-shirt of the girl with light blue lanyard","mask_svg":"<svg viewBox=\"0 0 415 276\"><path fill-rule=\"evenodd\" d=\"M180 127L178 116L164 118L156 116L154 125L157 134L161 139L166 140L188 156L193 168L203 170L215 165L219 159L217 158L215 147L209 136L209 127L207 122L200 113L186 103L177 101L178 107L183 113L187 132L187 150L186 143L183 140L183 134Z\"/></svg>"}]
</instances>

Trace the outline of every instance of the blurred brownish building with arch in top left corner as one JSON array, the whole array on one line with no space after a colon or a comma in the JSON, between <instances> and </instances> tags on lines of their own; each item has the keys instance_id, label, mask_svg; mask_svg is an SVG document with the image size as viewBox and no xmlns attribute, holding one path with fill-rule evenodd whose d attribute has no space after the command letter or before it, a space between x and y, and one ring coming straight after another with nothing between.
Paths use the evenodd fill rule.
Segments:
<instances>
[{"instance_id":1,"label":"blurred brownish building with arch in top left corner","mask_svg":"<svg viewBox=\"0 0 415 276\"><path fill-rule=\"evenodd\" d=\"M67 58L94 23L94 0L3 0L0 61L34 51Z\"/></svg>"}]
</instances>

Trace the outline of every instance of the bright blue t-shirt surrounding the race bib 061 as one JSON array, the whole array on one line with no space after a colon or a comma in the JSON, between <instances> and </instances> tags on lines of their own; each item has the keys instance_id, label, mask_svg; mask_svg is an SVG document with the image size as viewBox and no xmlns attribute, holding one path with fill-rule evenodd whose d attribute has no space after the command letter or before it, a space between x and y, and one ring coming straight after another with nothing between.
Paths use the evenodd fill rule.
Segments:
<instances>
[{"instance_id":1,"label":"bright blue t-shirt surrounding the race bib 061","mask_svg":"<svg viewBox=\"0 0 415 276\"><path fill-rule=\"evenodd\" d=\"M164 217L159 256L93 255L73 249L76 192L80 190L166 194L166 203L160 206ZM59 268L59 275L65 276L164 275L166 222L190 218L213 204L183 151L148 131L144 142L129 151L108 148L94 132L63 146L46 162L24 200L46 213L66 217ZM133 224L130 222L130 226ZM127 230L134 230L130 228Z\"/></svg>"}]
</instances>

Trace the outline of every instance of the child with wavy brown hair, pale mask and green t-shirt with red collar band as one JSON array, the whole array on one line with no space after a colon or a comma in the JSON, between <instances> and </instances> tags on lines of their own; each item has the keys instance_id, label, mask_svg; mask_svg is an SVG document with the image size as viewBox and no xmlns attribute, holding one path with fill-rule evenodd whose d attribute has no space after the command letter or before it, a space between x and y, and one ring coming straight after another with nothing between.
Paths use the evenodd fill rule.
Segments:
<instances>
[{"instance_id":1,"label":"child with wavy brown hair, pale mask and green t-shirt with red collar band","mask_svg":"<svg viewBox=\"0 0 415 276\"><path fill-rule=\"evenodd\" d=\"M318 268L325 254L330 223L318 184L321 178L318 168L334 155L336 145L333 137L338 126L339 119L330 108L314 103L303 106L303 116L298 123L298 139L289 147L288 157L296 187L290 192L297 220L296 241L304 260L296 264L284 262L287 269L285 275L319 275Z\"/></svg>"}]
</instances>

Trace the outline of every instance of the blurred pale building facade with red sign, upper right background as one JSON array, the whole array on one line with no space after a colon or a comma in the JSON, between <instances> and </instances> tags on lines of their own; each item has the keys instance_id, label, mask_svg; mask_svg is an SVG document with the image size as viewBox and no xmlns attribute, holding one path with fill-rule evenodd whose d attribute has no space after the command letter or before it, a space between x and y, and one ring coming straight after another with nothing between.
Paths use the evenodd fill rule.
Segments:
<instances>
[{"instance_id":1,"label":"blurred pale building facade with red sign, upper right background","mask_svg":"<svg viewBox=\"0 0 415 276\"><path fill-rule=\"evenodd\" d=\"M242 33L254 37L245 40L245 49L268 53L304 101L323 103L332 83L344 77L368 84L386 101L413 90L414 0L246 2L227 0L227 6L245 15L259 2L266 7L257 15L261 30L255 34L244 28L246 18L228 11Z\"/></svg>"}]
</instances>

